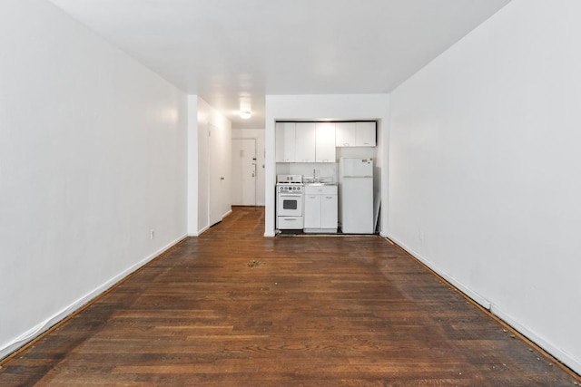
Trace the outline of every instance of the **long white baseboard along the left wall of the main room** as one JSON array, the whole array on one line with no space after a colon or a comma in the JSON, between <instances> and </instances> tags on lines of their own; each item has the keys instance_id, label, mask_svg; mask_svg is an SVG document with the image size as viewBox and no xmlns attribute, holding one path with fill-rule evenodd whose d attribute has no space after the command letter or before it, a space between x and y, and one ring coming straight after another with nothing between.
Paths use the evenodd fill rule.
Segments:
<instances>
[{"instance_id":1,"label":"long white baseboard along the left wall of the main room","mask_svg":"<svg viewBox=\"0 0 581 387\"><path fill-rule=\"evenodd\" d=\"M103 283L103 285L97 286L96 288L94 288L93 291L89 292L88 294L86 294L86 295L82 296L81 298L79 298L78 300L74 301L73 304L64 307L64 309L62 309L60 312L47 318L42 323L36 324L32 328L30 328L28 331L26 331L24 334L21 334L20 336L16 337L13 341L5 344L2 348L0 348L0 360L4 359L10 353L13 353L16 350L18 350L19 348L23 347L26 343L33 341L40 334L43 334L48 329L50 329L52 326L54 326L54 324L57 324L60 321L64 320L69 315L74 314L74 312L81 309L84 305L88 304L89 302L91 302L95 297L103 294L103 292L105 292L107 289L111 288L113 285L117 284L124 277L129 276L130 274L132 274L134 271L136 271L140 267L142 267L145 264L152 261L153 258L162 255L162 253L164 253L165 251L169 250L171 247L180 243L185 237L186 236L184 235L182 237L178 237L177 239L174 239L172 242L170 242L166 246L160 248L159 250L157 250L153 254L146 256L145 258L143 258L141 261L139 261L135 265L130 266L129 268L123 270L123 272L119 273L117 276L113 276L113 278L111 278L108 281L106 281L105 283Z\"/></svg>"}]
</instances>

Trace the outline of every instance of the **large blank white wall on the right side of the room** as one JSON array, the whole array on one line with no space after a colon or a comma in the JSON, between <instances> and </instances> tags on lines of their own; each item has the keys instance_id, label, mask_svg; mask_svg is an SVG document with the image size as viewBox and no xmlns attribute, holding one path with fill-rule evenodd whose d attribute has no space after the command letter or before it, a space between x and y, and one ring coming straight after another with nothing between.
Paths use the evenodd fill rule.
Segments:
<instances>
[{"instance_id":1,"label":"large blank white wall on the right side of the room","mask_svg":"<svg viewBox=\"0 0 581 387\"><path fill-rule=\"evenodd\" d=\"M581 2L514 0L391 94L389 237L581 372Z\"/></svg>"}]
</instances>

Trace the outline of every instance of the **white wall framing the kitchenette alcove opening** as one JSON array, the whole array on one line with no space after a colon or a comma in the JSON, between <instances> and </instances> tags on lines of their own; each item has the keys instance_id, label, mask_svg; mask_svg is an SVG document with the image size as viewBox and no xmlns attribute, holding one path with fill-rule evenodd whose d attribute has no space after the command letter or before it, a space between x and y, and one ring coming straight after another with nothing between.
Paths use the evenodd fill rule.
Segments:
<instances>
[{"instance_id":1,"label":"white wall framing the kitchenette alcove opening","mask_svg":"<svg viewBox=\"0 0 581 387\"><path fill-rule=\"evenodd\" d=\"M267 95L266 103L266 171L265 171L265 226L264 236L274 237L274 186L276 184L276 149L274 123L320 119L328 120L378 120L378 163L381 169L380 184L387 185L388 94L345 95ZM380 156L379 156L380 155ZM387 203L387 187L381 191L382 202ZM382 211L380 226L387 224L387 210Z\"/></svg>"}]
</instances>

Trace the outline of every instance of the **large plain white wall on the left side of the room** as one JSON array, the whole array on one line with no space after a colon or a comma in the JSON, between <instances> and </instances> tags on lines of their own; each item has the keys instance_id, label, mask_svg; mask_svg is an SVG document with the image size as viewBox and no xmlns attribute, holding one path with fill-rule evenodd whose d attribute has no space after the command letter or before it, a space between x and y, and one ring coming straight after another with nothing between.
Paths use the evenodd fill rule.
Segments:
<instances>
[{"instance_id":1,"label":"large plain white wall on the left side of the room","mask_svg":"<svg viewBox=\"0 0 581 387\"><path fill-rule=\"evenodd\" d=\"M49 2L0 2L0 357L186 234L185 103Z\"/></svg>"}]
</instances>

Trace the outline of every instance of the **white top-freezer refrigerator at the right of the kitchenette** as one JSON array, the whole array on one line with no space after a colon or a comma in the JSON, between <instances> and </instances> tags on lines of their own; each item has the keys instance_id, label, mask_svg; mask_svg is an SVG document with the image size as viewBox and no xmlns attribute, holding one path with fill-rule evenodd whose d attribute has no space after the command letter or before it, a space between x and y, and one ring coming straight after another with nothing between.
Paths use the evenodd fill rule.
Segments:
<instances>
[{"instance_id":1,"label":"white top-freezer refrigerator at the right of the kitchenette","mask_svg":"<svg viewBox=\"0 0 581 387\"><path fill-rule=\"evenodd\" d=\"M344 234L373 234L373 160L341 158L339 217Z\"/></svg>"}]
</instances>

